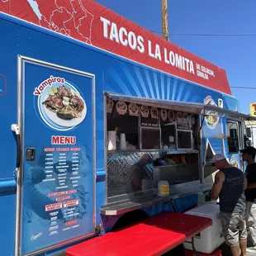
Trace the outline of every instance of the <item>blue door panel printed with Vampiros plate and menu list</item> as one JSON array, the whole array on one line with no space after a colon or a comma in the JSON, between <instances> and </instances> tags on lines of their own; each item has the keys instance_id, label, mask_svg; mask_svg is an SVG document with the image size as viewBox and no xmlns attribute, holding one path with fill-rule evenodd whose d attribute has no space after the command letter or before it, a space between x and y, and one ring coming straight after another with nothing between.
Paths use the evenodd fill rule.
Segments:
<instances>
[{"instance_id":1,"label":"blue door panel printed with Vampiros plate and menu list","mask_svg":"<svg viewBox=\"0 0 256 256\"><path fill-rule=\"evenodd\" d=\"M21 254L94 230L93 77L25 63ZM33 156L29 154L34 150Z\"/></svg>"}]
</instances>

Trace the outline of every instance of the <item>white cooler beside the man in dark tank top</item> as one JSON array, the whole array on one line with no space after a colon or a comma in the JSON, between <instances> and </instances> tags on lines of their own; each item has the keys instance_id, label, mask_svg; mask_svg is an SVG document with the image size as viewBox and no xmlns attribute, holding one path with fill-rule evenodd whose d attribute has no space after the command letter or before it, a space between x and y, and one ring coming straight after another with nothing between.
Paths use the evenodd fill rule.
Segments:
<instances>
[{"instance_id":1,"label":"white cooler beside the man in dark tank top","mask_svg":"<svg viewBox=\"0 0 256 256\"><path fill-rule=\"evenodd\" d=\"M202 206L186 211L185 214L210 218L212 225L194 238L195 248L198 252L211 254L216 248L225 242L220 224L220 206L216 203L206 203ZM191 242L191 239L187 241ZM192 244L184 242L185 249L192 249Z\"/></svg>"}]
</instances>

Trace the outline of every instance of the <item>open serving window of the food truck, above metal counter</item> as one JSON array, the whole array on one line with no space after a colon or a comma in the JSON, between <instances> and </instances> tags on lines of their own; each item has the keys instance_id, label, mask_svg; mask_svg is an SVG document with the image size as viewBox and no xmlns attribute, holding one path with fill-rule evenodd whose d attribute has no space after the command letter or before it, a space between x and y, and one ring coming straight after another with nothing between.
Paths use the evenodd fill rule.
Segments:
<instances>
[{"instance_id":1,"label":"open serving window of the food truck, above metal counter","mask_svg":"<svg viewBox=\"0 0 256 256\"><path fill-rule=\"evenodd\" d=\"M193 143L199 116L164 105L106 98L108 198L154 190L160 180L170 186L200 180Z\"/></svg>"}]
</instances>

